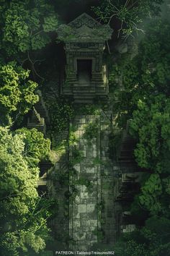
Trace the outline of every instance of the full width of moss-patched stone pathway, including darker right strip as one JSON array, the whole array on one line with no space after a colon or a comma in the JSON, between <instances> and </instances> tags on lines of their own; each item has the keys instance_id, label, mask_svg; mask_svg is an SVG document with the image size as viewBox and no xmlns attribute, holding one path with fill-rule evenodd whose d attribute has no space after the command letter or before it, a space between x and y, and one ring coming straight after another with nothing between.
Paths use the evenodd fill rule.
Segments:
<instances>
[{"instance_id":1,"label":"full width of moss-patched stone pathway, including darker right strip","mask_svg":"<svg viewBox=\"0 0 170 256\"><path fill-rule=\"evenodd\" d=\"M70 124L69 235L71 249L115 242L111 112L76 116Z\"/></svg>"}]
</instances>

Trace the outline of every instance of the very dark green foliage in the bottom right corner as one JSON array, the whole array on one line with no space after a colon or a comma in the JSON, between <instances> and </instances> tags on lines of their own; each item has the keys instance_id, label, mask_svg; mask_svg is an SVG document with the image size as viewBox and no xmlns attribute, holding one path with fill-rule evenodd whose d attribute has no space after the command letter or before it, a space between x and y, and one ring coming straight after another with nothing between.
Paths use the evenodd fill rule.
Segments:
<instances>
[{"instance_id":1,"label":"very dark green foliage in the bottom right corner","mask_svg":"<svg viewBox=\"0 0 170 256\"><path fill-rule=\"evenodd\" d=\"M122 237L114 246L116 255L163 256L169 255L169 219L148 218L146 226Z\"/></svg>"}]
</instances>

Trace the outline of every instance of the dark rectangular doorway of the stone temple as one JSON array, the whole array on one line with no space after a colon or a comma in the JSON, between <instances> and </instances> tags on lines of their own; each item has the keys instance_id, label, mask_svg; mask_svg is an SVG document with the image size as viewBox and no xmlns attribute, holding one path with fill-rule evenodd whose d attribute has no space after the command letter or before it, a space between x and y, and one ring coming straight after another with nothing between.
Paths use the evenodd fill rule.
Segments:
<instances>
[{"instance_id":1,"label":"dark rectangular doorway of the stone temple","mask_svg":"<svg viewBox=\"0 0 170 256\"><path fill-rule=\"evenodd\" d=\"M79 85L88 86L91 82L92 59L77 59Z\"/></svg>"}]
</instances>

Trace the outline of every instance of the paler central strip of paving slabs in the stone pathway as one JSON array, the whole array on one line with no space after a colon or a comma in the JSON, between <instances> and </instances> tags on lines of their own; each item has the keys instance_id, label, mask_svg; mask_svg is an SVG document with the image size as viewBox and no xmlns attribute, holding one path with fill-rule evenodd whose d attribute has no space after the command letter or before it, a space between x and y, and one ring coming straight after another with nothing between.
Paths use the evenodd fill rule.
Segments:
<instances>
[{"instance_id":1,"label":"paler central strip of paving slabs in the stone pathway","mask_svg":"<svg viewBox=\"0 0 170 256\"><path fill-rule=\"evenodd\" d=\"M71 129L70 192L75 195L69 203L69 233L72 249L86 251L98 242L101 229L99 116L76 116Z\"/></svg>"}]
</instances>

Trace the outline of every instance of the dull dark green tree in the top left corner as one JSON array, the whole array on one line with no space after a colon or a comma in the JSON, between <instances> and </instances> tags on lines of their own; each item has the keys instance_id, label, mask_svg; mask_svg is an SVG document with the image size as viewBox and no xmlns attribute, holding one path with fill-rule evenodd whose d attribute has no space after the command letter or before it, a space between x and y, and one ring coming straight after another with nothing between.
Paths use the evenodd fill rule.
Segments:
<instances>
[{"instance_id":1,"label":"dull dark green tree in the top left corner","mask_svg":"<svg viewBox=\"0 0 170 256\"><path fill-rule=\"evenodd\" d=\"M29 68L35 81L43 80L39 65L47 54L40 51L53 40L58 14L45 0L0 1L0 49L4 61L15 60Z\"/></svg>"}]
</instances>

